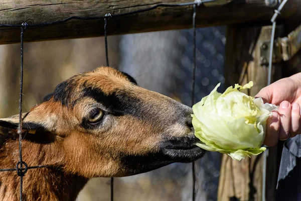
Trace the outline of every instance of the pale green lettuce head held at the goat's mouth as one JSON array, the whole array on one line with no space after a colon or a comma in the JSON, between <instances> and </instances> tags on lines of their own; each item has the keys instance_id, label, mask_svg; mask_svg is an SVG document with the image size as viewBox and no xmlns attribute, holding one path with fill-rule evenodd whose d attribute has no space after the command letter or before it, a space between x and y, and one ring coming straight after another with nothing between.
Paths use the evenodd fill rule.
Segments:
<instances>
[{"instance_id":1,"label":"pale green lettuce head held at the goat's mouth","mask_svg":"<svg viewBox=\"0 0 301 201\"><path fill-rule=\"evenodd\" d=\"M278 107L264 104L261 97L254 98L243 92L253 82L228 87L224 93L217 92L220 83L209 95L193 106L192 124L197 145L208 151L218 151L241 160L258 155L265 138L266 120Z\"/></svg>"}]
</instances>

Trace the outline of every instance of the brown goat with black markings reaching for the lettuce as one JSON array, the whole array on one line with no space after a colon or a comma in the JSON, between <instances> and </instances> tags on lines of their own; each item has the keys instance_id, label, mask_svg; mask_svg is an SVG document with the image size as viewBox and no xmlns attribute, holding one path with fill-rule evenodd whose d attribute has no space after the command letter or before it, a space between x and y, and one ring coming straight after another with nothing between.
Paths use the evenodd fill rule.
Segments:
<instances>
[{"instance_id":1,"label":"brown goat with black markings reaching for the lettuce","mask_svg":"<svg viewBox=\"0 0 301 201\"><path fill-rule=\"evenodd\" d=\"M75 200L92 177L134 175L173 162L192 162L192 109L136 85L109 67L59 84L23 120L24 200ZM18 116L0 119L0 167L19 161ZM19 199L16 172L0 172L0 199Z\"/></svg>"}]
</instances>

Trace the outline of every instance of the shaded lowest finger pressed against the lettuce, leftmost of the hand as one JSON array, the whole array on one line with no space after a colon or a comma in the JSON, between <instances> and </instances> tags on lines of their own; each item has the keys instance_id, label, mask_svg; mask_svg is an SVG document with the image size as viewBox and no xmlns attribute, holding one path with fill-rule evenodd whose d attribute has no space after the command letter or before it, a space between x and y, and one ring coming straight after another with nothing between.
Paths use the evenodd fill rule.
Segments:
<instances>
[{"instance_id":1,"label":"shaded lowest finger pressed against the lettuce, leftmost of the hand","mask_svg":"<svg viewBox=\"0 0 301 201\"><path fill-rule=\"evenodd\" d=\"M276 111L272 112L272 116L266 122L266 134L264 144L266 146L275 146L279 139L280 117Z\"/></svg>"}]
</instances>

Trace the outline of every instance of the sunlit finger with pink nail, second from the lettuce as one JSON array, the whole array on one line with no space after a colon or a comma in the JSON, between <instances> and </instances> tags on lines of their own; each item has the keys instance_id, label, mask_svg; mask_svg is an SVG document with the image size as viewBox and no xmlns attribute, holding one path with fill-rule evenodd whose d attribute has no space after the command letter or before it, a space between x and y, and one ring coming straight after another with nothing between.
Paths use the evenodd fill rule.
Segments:
<instances>
[{"instance_id":1,"label":"sunlit finger with pink nail, second from the lettuce","mask_svg":"<svg viewBox=\"0 0 301 201\"><path fill-rule=\"evenodd\" d=\"M291 108L290 103L284 100L279 106L280 130L279 140L285 140L289 137Z\"/></svg>"}]
</instances>

